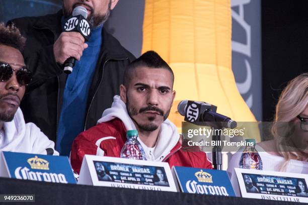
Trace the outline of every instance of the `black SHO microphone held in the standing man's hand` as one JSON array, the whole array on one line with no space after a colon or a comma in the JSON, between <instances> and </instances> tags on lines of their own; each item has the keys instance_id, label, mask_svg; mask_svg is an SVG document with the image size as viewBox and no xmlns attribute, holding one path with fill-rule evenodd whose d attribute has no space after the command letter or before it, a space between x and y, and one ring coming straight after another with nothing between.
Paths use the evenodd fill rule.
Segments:
<instances>
[{"instance_id":1,"label":"black SHO microphone held in the standing man's hand","mask_svg":"<svg viewBox=\"0 0 308 205\"><path fill-rule=\"evenodd\" d=\"M87 21L88 12L87 9L79 6L72 11L72 17L67 19L64 24L64 31L66 32L79 32L85 41L89 41L91 36L91 27ZM75 65L76 59L74 57L67 58L64 62L64 72L70 74L72 68Z\"/></svg>"}]
</instances>

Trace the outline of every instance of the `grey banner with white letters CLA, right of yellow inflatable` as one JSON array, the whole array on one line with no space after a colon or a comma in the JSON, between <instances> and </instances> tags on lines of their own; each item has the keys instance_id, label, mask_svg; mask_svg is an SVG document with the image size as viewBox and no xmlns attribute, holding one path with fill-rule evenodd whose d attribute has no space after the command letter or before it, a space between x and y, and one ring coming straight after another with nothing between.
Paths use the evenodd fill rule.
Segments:
<instances>
[{"instance_id":1,"label":"grey banner with white letters CLA, right of yellow inflatable","mask_svg":"<svg viewBox=\"0 0 308 205\"><path fill-rule=\"evenodd\" d=\"M248 107L261 119L261 1L232 0L232 69Z\"/></svg>"}]
</instances>

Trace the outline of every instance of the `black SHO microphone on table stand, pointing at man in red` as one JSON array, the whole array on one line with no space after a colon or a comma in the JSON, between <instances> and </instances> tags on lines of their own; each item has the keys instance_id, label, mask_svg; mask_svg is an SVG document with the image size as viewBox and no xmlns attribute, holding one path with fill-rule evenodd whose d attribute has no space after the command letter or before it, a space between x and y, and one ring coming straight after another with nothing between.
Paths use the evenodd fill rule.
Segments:
<instances>
[{"instance_id":1,"label":"black SHO microphone on table stand, pointing at man in red","mask_svg":"<svg viewBox=\"0 0 308 205\"><path fill-rule=\"evenodd\" d=\"M237 127L236 121L216 113L216 110L216 106L201 101L182 100L178 105L178 112L187 122L221 122L223 128Z\"/></svg>"}]
</instances>

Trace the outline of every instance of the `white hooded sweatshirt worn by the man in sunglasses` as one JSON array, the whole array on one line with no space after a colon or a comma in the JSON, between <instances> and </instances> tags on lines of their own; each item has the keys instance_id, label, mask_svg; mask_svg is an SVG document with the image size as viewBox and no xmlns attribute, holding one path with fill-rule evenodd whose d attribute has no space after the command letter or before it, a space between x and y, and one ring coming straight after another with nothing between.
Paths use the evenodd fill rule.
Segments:
<instances>
[{"instance_id":1,"label":"white hooded sweatshirt worn by the man in sunglasses","mask_svg":"<svg viewBox=\"0 0 308 205\"><path fill-rule=\"evenodd\" d=\"M47 154L46 149L51 148L53 155L59 155L54 150L54 142L49 140L35 124L25 123L20 108L17 109L14 119L4 123L3 128L5 136L0 139L0 151Z\"/></svg>"}]
</instances>

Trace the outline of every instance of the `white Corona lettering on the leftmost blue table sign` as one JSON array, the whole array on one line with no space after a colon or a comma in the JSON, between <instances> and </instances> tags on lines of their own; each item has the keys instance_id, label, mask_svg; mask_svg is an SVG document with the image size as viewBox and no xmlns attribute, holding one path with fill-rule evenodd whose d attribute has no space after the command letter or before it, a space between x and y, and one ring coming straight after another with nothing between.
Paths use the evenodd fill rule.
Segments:
<instances>
[{"instance_id":1,"label":"white Corona lettering on the leftmost blue table sign","mask_svg":"<svg viewBox=\"0 0 308 205\"><path fill-rule=\"evenodd\" d=\"M18 179L28 179L34 181L46 181L56 183L68 183L64 174L47 173L40 171L30 171L27 167L17 167L15 169L15 176Z\"/></svg>"}]
</instances>

